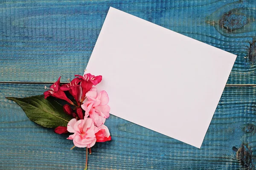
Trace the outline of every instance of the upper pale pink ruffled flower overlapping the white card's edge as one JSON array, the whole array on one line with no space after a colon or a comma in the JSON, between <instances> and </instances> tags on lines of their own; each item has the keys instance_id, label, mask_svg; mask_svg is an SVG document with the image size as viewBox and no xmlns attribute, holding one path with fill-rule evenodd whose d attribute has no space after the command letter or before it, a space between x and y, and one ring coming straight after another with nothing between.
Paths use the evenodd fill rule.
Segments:
<instances>
[{"instance_id":1,"label":"upper pale pink ruffled flower overlapping the white card's edge","mask_svg":"<svg viewBox=\"0 0 256 170\"><path fill-rule=\"evenodd\" d=\"M98 94L96 88L92 88L86 93L86 97L88 101L81 105L81 108L85 111L84 117L90 116L93 119L94 125L99 127L110 116L110 107L107 105L109 100L108 94L106 91L101 91Z\"/></svg>"}]
</instances>

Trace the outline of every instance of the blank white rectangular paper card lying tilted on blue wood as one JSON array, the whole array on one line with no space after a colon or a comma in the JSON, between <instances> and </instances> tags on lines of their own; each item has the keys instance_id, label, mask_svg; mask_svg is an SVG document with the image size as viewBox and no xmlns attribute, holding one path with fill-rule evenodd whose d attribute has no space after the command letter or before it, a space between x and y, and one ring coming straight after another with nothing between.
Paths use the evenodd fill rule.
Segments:
<instances>
[{"instance_id":1,"label":"blank white rectangular paper card lying tilted on blue wood","mask_svg":"<svg viewBox=\"0 0 256 170\"><path fill-rule=\"evenodd\" d=\"M86 69L111 114L200 148L235 60L111 7Z\"/></svg>"}]
</instances>

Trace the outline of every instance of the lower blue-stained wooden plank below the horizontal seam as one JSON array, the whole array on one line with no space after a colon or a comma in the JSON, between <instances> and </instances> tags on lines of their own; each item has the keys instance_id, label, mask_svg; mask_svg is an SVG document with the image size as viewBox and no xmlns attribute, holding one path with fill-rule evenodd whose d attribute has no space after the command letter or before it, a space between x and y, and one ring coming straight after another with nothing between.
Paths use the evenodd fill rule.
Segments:
<instances>
[{"instance_id":1,"label":"lower blue-stained wooden plank below the horizontal seam","mask_svg":"<svg viewBox=\"0 0 256 170\"><path fill-rule=\"evenodd\" d=\"M43 91L44 85L0 84L1 170L83 169L84 149L70 150L66 134L31 122L5 99ZM88 170L254 170L255 103L256 87L226 87L201 149L111 115L112 141L92 148Z\"/></svg>"}]
</instances>

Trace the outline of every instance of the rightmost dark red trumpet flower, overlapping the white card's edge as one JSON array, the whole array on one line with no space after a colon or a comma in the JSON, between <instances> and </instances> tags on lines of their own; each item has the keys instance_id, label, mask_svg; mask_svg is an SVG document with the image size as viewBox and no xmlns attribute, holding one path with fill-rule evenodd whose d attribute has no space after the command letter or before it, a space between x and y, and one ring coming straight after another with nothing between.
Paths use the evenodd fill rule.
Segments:
<instances>
[{"instance_id":1,"label":"rightmost dark red trumpet flower, overlapping the white card's edge","mask_svg":"<svg viewBox=\"0 0 256 170\"><path fill-rule=\"evenodd\" d=\"M84 76L75 75L81 79L82 97L81 102L85 99L85 94L93 87L102 81L102 76L93 76L90 73L84 74Z\"/></svg>"}]
</instances>

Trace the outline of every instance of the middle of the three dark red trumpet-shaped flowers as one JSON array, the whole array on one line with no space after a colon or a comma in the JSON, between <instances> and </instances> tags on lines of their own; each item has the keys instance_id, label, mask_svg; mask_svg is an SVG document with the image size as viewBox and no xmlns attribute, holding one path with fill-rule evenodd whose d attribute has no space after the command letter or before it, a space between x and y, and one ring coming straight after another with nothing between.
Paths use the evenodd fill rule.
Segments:
<instances>
[{"instance_id":1,"label":"middle of the three dark red trumpet-shaped flowers","mask_svg":"<svg viewBox=\"0 0 256 170\"><path fill-rule=\"evenodd\" d=\"M81 99L81 87L79 82L82 80L78 77L74 78L70 83L61 85L61 89L63 91L67 91L74 97L78 106L80 106L80 99Z\"/></svg>"}]
</instances>

